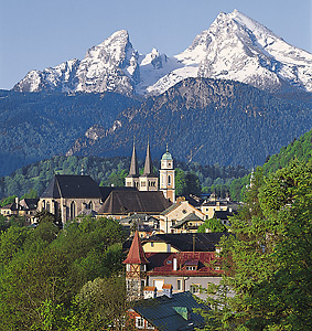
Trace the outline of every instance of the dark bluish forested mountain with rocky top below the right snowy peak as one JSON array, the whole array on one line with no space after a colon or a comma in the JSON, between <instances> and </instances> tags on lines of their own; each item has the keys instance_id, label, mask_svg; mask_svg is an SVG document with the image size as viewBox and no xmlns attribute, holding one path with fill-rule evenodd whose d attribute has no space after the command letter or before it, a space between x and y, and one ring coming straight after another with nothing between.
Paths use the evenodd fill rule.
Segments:
<instances>
[{"instance_id":1,"label":"dark bluish forested mountain with rocky top below the right snowy peak","mask_svg":"<svg viewBox=\"0 0 312 331\"><path fill-rule=\"evenodd\" d=\"M309 103L281 99L238 82L187 78L120 113L109 130L89 128L88 137L80 137L67 154L129 154L132 137L143 153L149 137L154 158L169 142L182 161L251 168L310 130L311 124Z\"/></svg>"}]
</instances>

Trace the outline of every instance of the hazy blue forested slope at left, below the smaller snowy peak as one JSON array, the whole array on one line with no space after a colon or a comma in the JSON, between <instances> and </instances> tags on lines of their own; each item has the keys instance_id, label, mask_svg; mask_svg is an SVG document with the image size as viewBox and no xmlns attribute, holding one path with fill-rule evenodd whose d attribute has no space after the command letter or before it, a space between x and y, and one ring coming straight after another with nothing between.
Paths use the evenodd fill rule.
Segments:
<instances>
[{"instance_id":1,"label":"hazy blue forested slope at left, below the smaller snowy peak","mask_svg":"<svg viewBox=\"0 0 312 331\"><path fill-rule=\"evenodd\" d=\"M88 127L108 128L133 98L106 94L0 90L0 177L22 166L65 153Z\"/></svg>"}]
</instances>

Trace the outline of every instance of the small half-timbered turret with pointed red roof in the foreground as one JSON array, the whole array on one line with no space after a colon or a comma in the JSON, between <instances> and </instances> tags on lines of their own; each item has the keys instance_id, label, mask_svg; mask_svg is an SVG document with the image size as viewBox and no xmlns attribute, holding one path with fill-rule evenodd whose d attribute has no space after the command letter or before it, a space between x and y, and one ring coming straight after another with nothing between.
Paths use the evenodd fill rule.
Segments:
<instances>
[{"instance_id":1,"label":"small half-timbered turret with pointed red roof in the foreground","mask_svg":"<svg viewBox=\"0 0 312 331\"><path fill-rule=\"evenodd\" d=\"M148 264L138 231L133 236L127 258L122 261L126 265L126 285L129 300L141 299L143 289L148 285Z\"/></svg>"}]
</instances>

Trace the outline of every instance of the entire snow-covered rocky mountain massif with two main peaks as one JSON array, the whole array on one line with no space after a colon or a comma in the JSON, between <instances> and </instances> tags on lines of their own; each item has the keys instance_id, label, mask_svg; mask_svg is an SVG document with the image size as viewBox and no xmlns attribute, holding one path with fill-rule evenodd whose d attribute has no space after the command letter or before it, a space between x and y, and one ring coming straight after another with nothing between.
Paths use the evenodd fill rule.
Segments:
<instances>
[{"instance_id":1,"label":"entire snow-covered rocky mountain massif with two main peaks","mask_svg":"<svg viewBox=\"0 0 312 331\"><path fill-rule=\"evenodd\" d=\"M14 89L158 95L187 77L238 81L271 92L290 87L312 92L312 54L235 10L219 13L175 56L155 49L139 54L122 30L92 47L83 61L30 72Z\"/></svg>"}]
</instances>

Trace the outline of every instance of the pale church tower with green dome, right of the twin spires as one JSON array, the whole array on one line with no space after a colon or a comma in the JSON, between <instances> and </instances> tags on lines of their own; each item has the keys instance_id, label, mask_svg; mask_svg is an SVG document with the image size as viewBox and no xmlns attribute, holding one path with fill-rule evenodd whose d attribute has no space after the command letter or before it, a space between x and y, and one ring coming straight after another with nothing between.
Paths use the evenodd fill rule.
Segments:
<instances>
[{"instance_id":1,"label":"pale church tower with green dome, right of the twin spires","mask_svg":"<svg viewBox=\"0 0 312 331\"><path fill-rule=\"evenodd\" d=\"M173 159L171 153L166 151L160 161L160 191L163 192L165 199L175 202L175 171L173 169Z\"/></svg>"}]
</instances>

